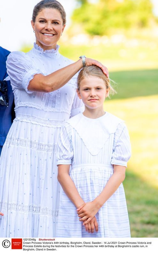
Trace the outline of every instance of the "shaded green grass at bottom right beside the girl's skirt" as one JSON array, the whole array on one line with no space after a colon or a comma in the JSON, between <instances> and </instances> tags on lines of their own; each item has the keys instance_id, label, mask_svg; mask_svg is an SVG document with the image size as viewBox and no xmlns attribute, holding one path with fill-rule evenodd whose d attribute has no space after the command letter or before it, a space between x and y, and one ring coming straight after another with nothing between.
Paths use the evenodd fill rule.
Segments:
<instances>
[{"instance_id":1,"label":"shaded green grass at bottom right beside the girl's skirt","mask_svg":"<svg viewBox=\"0 0 158 256\"><path fill-rule=\"evenodd\" d=\"M131 237L158 237L158 191L132 170L123 182L130 219Z\"/></svg>"}]
</instances>

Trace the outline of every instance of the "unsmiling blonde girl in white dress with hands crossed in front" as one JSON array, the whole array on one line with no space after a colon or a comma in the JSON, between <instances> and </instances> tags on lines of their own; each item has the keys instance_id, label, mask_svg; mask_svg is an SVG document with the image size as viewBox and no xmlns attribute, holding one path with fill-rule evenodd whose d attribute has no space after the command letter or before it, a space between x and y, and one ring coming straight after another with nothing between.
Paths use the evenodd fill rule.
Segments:
<instances>
[{"instance_id":1,"label":"unsmiling blonde girl in white dress with hands crossed in front","mask_svg":"<svg viewBox=\"0 0 158 256\"><path fill-rule=\"evenodd\" d=\"M130 237L122 185L130 158L129 134L124 121L103 109L114 89L96 66L80 71L77 88L85 110L66 122L57 147L64 191L56 236Z\"/></svg>"}]
</instances>

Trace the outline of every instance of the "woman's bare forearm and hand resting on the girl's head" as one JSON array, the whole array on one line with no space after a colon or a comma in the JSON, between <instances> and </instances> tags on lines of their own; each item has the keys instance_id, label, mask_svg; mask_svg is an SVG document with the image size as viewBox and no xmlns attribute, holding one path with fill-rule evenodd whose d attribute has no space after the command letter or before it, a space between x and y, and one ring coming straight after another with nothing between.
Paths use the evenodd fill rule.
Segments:
<instances>
[{"instance_id":1,"label":"woman's bare forearm and hand resting on the girl's head","mask_svg":"<svg viewBox=\"0 0 158 256\"><path fill-rule=\"evenodd\" d=\"M103 70L103 73L108 76L107 68L99 61L86 58L86 66L96 65ZM58 69L50 75L43 76L42 74L34 75L34 78L29 82L28 90L36 92L53 92L65 85L80 69L82 68L82 59Z\"/></svg>"}]
</instances>

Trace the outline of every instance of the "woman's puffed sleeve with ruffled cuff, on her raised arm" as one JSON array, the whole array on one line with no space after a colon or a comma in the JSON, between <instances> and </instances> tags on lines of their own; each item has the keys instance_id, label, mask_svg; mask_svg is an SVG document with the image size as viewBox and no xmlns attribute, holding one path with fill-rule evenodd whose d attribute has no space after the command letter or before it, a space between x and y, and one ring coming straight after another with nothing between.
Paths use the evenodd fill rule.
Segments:
<instances>
[{"instance_id":1,"label":"woman's puffed sleeve with ruffled cuff, on her raised arm","mask_svg":"<svg viewBox=\"0 0 158 256\"><path fill-rule=\"evenodd\" d=\"M11 79L12 89L25 89L26 92L32 93L28 90L28 84L33 79L35 74L44 74L31 64L31 60L27 53L11 52L6 61L7 73Z\"/></svg>"}]
</instances>

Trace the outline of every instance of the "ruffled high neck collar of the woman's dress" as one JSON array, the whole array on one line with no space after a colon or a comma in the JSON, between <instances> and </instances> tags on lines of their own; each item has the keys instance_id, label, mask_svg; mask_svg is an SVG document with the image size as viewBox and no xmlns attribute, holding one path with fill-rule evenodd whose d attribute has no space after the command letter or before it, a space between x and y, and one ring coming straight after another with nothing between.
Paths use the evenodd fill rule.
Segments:
<instances>
[{"instance_id":1,"label":"ruffled high neck collar of the woman's dress","mask_svg":"<svg viewBox=\"0 0 158 256\"><path fill-rule=\"evenodd\" d=\"M59 58L59 56L60 56L60 53L58 51L59 47L60 46L57 44L56 50L51 49L51 50L45 50L44 51L41 46L39 46L38 44L34 43L34 49L36 50L36 52L38 51L37 52L38 54L41 54L42 56L44 55L46 57L51 57L53 59L58 59Z\"/></svg>"}]
</instances>

